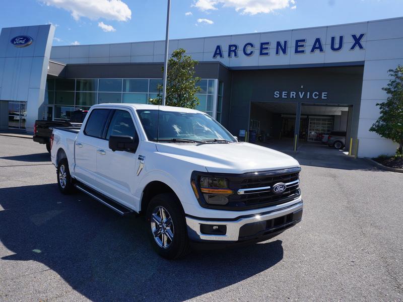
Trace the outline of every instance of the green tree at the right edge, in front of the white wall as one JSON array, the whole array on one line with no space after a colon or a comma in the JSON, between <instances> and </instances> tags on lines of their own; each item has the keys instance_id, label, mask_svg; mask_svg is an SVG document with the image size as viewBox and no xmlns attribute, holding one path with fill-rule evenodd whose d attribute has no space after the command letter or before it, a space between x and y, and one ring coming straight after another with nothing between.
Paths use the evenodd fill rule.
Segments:
<instances>
[{"instance_id":1,"label":"green tree at the right edge, in front of the white wall","mask_svg":"<svg viewBox=\"0 0 403 302\"><path fill-rule=\"evenodd\" d=\"M389 69L392 80L382 88L389 95L384 103L377 103L380 117L369 129L399 144L397 154L403 154L403 66Z\"/></svg>"}]
</instances>

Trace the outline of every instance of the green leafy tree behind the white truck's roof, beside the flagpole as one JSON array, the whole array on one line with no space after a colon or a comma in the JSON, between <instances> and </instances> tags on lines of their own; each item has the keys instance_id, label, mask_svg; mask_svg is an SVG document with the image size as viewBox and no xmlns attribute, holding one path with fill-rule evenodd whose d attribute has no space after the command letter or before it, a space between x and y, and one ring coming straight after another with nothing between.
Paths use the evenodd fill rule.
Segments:
<instances>
[{"instance_id":1,"label":"green leafy tree behind the white truck's roof, beside the flagpole","mask_svg":"<svg viewBox=\"0 0 403 302\"><path fill-rule=\"evenodd\" d=\"M200 78L194 77L194 67L198 61L185 55L186 50L179 48L172 53L168 60L166 105L195 109L199 103L195 94L200 91L197 83ZM164 72L164 67L162 67ZM158 91L162 91L162 85L158 85ZM162 94L149 100L151 104L161 105Z\"/></svg>"}]
</instances>

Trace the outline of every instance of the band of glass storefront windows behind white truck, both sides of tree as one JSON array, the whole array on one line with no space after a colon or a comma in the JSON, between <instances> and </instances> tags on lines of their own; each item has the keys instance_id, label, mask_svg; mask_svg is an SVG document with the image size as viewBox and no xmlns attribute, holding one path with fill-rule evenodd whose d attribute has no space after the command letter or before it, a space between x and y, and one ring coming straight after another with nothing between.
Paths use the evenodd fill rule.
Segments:
<instances>
[{"instance_id":1,"label":"band of glass storefront windows behind white truck, both sides of tree","mask_svg":"<svg viewBox=\"0 0 403 302\"><path fill-rule=\"evenodd\" d=\"M221 116L222 83L218 87L216 104L216 81L203 79L197 83L201 88L196 94L200 102L197 109L211 116L216 110L217 116ZM47 79L45 103L53 108L54 118L63 119L60 116L69 113L68 109L61 111L61 108L88 109L102 103L150 103L150 99L156 99L162 93L158 85L162 85L162 79ZM59 108L57 112L56 107Z\"/></svg>"}]
</instances>

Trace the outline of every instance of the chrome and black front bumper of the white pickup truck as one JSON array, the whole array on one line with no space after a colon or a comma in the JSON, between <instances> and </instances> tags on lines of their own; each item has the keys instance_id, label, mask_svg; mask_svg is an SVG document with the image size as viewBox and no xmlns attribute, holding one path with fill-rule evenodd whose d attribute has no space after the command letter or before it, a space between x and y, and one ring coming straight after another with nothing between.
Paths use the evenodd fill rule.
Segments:
<instances>
[{"instance_id":1,"label":"chrome and black front bumper of the white pickup truck","mask_svg":"<svg viewBox=\"0 0 403 302\"><path fill-rule=\"evenodd\" d=\"M294 202L294 203L293 203ZM284 207L259 214L240 216L236 220L206 219L186 216L187 233L194 242L239 242L270 238L295 225L302 218L303 202L288 202ZM209 226L225 226L225 234L204 234L201 226L206 230ZM209 228L207 228L209 229ZM214 232L211 232L214 233ZM272 236L272 237L274 237Z\"/></svg>"}]
</instances>

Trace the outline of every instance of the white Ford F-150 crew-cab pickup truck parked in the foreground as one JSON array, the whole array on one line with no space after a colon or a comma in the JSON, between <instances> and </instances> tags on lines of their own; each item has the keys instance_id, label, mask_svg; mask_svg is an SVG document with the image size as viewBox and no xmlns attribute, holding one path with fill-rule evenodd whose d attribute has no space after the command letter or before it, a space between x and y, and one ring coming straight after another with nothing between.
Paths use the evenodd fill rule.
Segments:
<instances>
[{"instance_id":1,"label":"white Ford F-150 crew-cab pickup truck parked in the foreground","mask_svg":"<svg viewBox=\"0 0 403 302\"><path fill-rule=\"evenodd\" d=\"M62 193L77 188L122 215L146 215L168 259L264 241L302 218L298 162L238 141L197 110L94 105L81 128L54 128L51 145Z\"/></svg>"}]
</instances>

